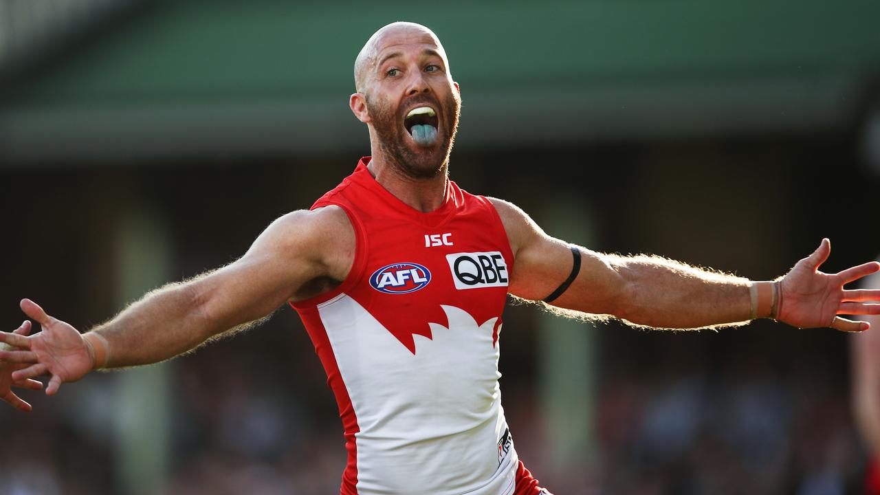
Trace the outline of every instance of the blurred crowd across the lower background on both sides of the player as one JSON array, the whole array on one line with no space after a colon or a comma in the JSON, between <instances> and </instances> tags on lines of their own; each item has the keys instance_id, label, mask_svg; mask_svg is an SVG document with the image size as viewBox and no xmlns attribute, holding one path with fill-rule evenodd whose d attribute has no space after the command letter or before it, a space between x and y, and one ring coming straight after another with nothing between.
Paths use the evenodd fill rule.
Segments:
<instances>
[{"instance_id":1,"label":"blurred crowd across the lower background on both sides of the player","mask_svg":"<svg viewBox=\"0 0 880 495\"><path fill-rule=\"evenodd\" d=\"M532 331L528 321L521 323ZM713 341L737 336L647 335L610 326L590 331L610 336L612 351L621 344L614 336L622 332L634 351L612 352L615 362L603 367L591 425L595 465L584 460L583 472L569 473L570 479L542 474L555 471L543 455L541 404L502 353L502 372L514 375L510 383L502 378L502 388L517 451L550 489L571 495L858 492L862 450L840 353L805 354L803 366L774 365L769 343L766 353L734 351L713 362L705 343L719 345ZM339 490L345 449L323 370L311 352L300 352L309 342L288 308L267 327L163 365L173 366L172 448L169 477L159 493ZM749 332L727 330L744 331ZM527 355L517 347L528 339L506 337L517 358ZM846 337L828 338L833 349ZM507 344L503 337L502 344ZM304 358L278 359L277 346L298 348L291 355ZM707 355L686 356L693 352ZM662 357L646 360L648 353ZM273 357L260 359L263 355ZM36 406L31 415L0 410L0 421L16 432L0 449L0 493L121 492L109 426L120 373L65 385L49 400L31 394Z\"/></svg>"}]
</instances>

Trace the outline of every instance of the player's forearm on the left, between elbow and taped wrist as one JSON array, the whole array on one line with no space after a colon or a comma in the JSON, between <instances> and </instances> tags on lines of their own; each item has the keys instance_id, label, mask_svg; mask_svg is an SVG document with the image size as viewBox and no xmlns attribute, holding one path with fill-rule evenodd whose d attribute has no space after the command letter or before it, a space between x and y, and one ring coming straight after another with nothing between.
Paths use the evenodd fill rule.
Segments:
<instances>
[{"instance_id":1,"label":"player's forearm on the left, between elbow and taped wrist","mask_svg":"<svg viewBox=\"0 0 880 495\"><path fill-rule=\"evenodd\" d=\"M193 284L169 284L92 329L106 339L104 367L157 363L222 331L202 309L200 299Z\"/></svg>"}]
</instances>

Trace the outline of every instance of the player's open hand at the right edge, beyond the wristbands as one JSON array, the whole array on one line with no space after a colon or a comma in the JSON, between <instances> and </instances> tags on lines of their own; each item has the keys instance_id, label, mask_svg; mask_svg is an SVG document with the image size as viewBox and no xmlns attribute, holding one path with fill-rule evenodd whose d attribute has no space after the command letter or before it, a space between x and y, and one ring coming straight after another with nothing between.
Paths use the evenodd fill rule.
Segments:
<instances>
[{"instance_id":1,"label":"player's open hand at the right edge, beyond the wristbands","mask_svg":"<svg viewBox=\"0 0 880 495\"><path fill-rule=\"evenodd\" d=\"M776 320L801 329L831 327L846 332L869 329L868 321L852 321L838 314L880 314L880 289L844 290L843 286L880 270L867 262L838 273L818 270L831 254L831 241L797 262L780 281ZM869 301L874 301L869 302Z\"/></svg>"}]
</instances>

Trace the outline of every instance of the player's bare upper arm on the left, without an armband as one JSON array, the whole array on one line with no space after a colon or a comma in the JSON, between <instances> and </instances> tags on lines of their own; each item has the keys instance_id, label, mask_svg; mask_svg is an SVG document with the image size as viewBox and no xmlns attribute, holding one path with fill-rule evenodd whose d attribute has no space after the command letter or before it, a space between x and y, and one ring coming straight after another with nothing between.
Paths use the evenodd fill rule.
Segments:
<instances>
[{"instance_id":1,"label":"player's bare upper arm on the left, without an armband","mask_svg":"<svg viewBox=\"0 0 880 495\"><path fill-rule=\"evenodd\" d=\"M271 314L316 280L341 281L354 246L354 229L338 208L295 211L269 225L237 261L196 278L191 289L199 310L215 321L212 328L224 331Z\"/></svg>"}]
</instances>

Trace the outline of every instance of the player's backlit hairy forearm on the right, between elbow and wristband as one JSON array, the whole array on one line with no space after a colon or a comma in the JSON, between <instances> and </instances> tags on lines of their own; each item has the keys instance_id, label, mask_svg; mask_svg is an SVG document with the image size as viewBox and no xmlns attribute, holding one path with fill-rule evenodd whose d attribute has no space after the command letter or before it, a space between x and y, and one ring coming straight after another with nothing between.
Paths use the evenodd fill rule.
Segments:
<instances>
[{"instance_id":1,"label":"player's backlit hairy forearm on the right, between elbow and wristband","mask_svg":"<svg viewBox=\"0 0 880 495\"><path fill-rule=\"evenodd\" d=\"M622 279L613 315L636 325L697 329L751 320L751 282L648 255L606 255Z\"/></svg>"}]
</instances>

